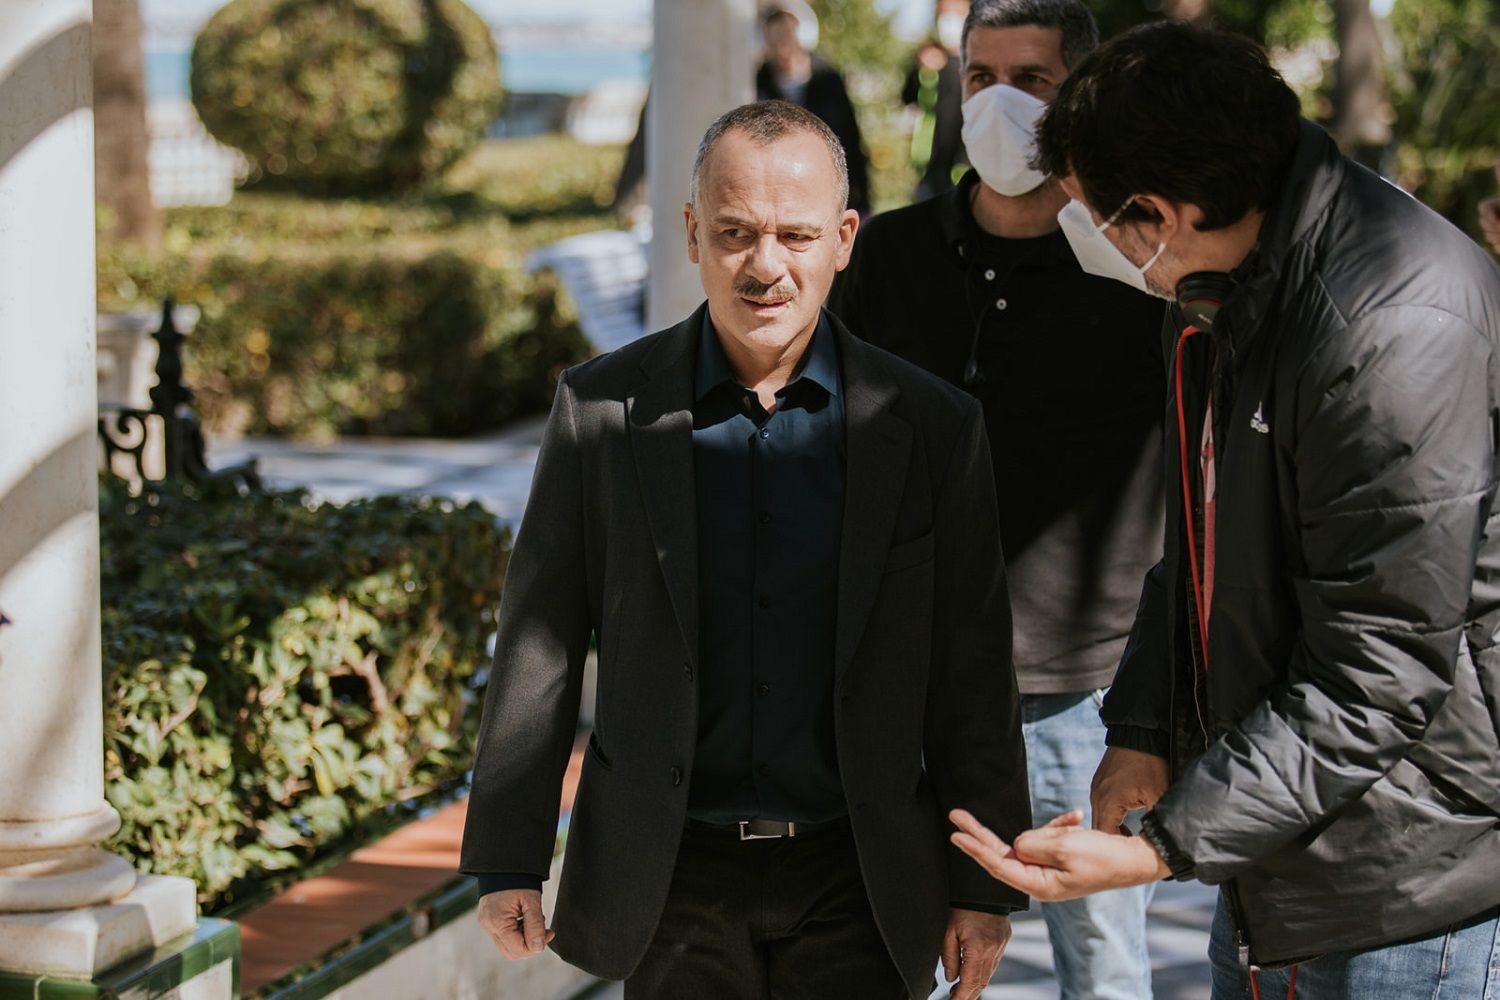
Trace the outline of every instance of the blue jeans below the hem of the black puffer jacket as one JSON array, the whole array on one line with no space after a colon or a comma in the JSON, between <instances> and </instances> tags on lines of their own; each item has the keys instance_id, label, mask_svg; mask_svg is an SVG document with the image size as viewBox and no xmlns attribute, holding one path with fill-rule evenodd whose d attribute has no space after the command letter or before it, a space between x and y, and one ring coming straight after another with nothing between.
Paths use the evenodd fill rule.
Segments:
<instances>
[{"instance_id":1,"label":"blue jeans below the hem of the black puffer jacket","mask_svg":"<svg viewBox=\"0 0 1500 1000\"><path fill-rule=\"evenodd\" d=\"M1352 918L1354 919L1354 918ZM1298 966L1296 1000L1500 1000L1500 910L1434 934L1362 952L1330 952ZM1250 1000L1220 894L1209 934L1214 1000ZM1258 973L1262 1000L1287 996L1290 969Z\"/></svg>"}]
</instances>

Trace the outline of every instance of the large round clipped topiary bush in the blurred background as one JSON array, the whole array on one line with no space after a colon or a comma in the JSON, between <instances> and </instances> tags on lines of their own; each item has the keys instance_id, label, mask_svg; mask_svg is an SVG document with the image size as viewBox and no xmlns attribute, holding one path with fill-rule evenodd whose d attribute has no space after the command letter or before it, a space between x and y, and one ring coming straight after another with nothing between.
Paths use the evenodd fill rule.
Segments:
<instances>
[{"instance_id":1,"label":"large round clipped topiary bush in the blurred background","mask_svg":"<svg viewBox=\"0 0 1500 1000\"><path fill-rule=\"evenodd\" d=\"M501 94L489 27L462 0L231 0L194 45L190 87L252 183L339 193L442 172Z\"/></svg>"}]
</instances>

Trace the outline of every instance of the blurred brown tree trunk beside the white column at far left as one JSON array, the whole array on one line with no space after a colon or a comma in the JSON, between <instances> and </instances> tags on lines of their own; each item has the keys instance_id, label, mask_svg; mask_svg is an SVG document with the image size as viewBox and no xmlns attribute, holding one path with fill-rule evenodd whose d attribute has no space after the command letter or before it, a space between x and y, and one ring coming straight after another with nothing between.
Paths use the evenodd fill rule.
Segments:
<instances>
[{"instance_id":1,"label":"blurred brown tree trunk beside the white column at far left","mask_svg":"<svg viewBox=\"0 0 1500 1000\"><path fill-rule=\"evenodd\" d=\"M138 0L94 0L94 196L104 235L154 250L162 219L146 163L146 58Z\"/></svg>"}]
</instances>

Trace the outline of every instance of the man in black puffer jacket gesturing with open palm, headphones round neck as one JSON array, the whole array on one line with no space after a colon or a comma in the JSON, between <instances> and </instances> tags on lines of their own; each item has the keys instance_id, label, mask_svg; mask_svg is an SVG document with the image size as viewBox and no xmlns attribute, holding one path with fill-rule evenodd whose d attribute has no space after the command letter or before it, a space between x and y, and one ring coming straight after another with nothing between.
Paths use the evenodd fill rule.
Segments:
<instances>
[{"instance_id":1,"label":"man in black puffer jacket gesturing with open palm, headphones round neck","mask_svg":"<svg viewBox=\"0 0 1500 1000\"><path fill-rule=\"evenodd\" d=\"M1178 303L1166 558L1096 829L956 843L1044 900L1222 886L1215 1000L1500 996L1500 274L1227 34L1101 48L1040 160L1083 267Z\"/></svg>"}]
</instances>

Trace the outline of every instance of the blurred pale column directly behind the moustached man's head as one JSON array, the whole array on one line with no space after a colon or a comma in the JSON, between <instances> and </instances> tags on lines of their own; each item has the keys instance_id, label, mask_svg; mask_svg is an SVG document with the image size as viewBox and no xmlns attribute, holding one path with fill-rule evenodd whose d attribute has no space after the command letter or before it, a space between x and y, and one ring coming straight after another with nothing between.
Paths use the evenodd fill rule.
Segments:
<instances>
[{"instance_id":1,"label":"blurred pale column directly behind the moustached man's head","mask_svg":"<svg viewBox=\"0 0 1500 1000\"><path fill-rule=\"evenodd\" d=\"M682 204L704 130L754 99L754 0L656 0L646 109L650 330L684 319L704 300L698 268L687 259Z\"/></svg>"}]
</instances>

